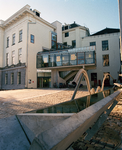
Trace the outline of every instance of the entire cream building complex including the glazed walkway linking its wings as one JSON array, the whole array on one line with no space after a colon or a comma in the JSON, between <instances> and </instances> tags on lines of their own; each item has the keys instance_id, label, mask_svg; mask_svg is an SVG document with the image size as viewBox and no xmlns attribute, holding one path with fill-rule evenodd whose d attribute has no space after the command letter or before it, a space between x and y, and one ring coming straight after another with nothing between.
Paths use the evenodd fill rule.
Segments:
<instances>
[{"instance_id":1,"label":"entire cream building complex including the glazed walkway linking its wings","mask_svg":"<svg viewBox=\"0 0 122 150\"><path fill-rule=\"evenodd\" d=\"M91 85L101 84L106 72L118 80L118 29L90 36L88 28L75 22L50 24L40 14L26 5L0 20L0 89L66 84L81 68L87 70ZM69 76L62 78L62 72Z\"/></svg>"}]
</instances>

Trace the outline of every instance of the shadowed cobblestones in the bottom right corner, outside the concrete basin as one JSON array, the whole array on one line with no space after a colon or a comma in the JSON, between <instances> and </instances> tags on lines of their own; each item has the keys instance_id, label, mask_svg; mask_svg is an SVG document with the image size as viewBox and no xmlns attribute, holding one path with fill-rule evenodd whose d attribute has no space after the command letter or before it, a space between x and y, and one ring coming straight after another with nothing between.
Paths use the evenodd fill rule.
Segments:
<instances>
[{"instance_id":1,"label":"shadowed cobblestones in the bottom right corner, outside the concrete basin","mask_svg":"<svg viewBox=\"0 0 122 150\"><path fill-rule=\"evenodd\" d=\"M121 93L122 95L122 93ZM122 97L122 96L121 96ZM122 99L114 107L99 131L90 141L80 137L73 145L74 150L120 150L122 149ZM121 148L120 148L121 147Z\"/></svg>"}]
</instances>

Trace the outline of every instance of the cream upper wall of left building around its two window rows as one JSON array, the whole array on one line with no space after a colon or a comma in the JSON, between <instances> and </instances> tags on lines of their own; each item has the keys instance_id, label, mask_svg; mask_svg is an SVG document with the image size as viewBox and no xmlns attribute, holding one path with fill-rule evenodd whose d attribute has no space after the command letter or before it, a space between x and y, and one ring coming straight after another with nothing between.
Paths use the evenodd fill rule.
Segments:
<instances>
[{"instance_id":1,"label":"cream upper wall of left building around its two window rows","mask_svg":"<svg viewBox=\"0 0 122 150\"><path fill-rule=\"evenodd\" d=\"M19 31L22 30L22 42L19 43ZM15 33L15 45L12 45L12 35ZM4 32L4 60L3 67L6 66L6 53L9 53L9 66L12 65L12 51L15 51L15 64L18 64L18 50L22 48L22 63L26 63L27 46L27 17L10 25ZM9 37L9 47L7 48L7 37Z\"/></svg>"}]
</instances>

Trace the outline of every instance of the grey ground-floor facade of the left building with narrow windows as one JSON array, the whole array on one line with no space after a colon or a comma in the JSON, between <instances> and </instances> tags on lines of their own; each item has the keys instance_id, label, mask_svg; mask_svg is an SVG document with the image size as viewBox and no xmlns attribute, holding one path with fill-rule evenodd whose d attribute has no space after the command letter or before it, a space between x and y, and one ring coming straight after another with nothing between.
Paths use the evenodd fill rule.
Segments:
<instances>
[{"instance_id":1,"label":"grey ground-floor facade of the left building with narrow windows","mask_svg":"<svg viewBox=\"0 0 122 150\"><path fill-rule=\"evenodd\" d=\"M18 73L20 73L20 83L18 82ZM13 74L13 83L12 83ZM7 75L7 83L6 83ZM26 66L11 66L3 68L0 72L1 89L23 89L25 88Z\"/></svg>"}]
</instances>

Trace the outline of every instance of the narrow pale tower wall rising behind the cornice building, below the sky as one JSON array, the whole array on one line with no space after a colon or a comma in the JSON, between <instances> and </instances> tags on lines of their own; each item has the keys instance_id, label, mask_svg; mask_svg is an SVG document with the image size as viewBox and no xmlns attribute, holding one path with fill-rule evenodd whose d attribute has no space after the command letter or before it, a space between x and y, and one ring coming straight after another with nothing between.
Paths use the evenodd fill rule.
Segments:
<instances>
[{"instance_id":1,"label":"narrow pale tower wall rising behind the cornice building, below the sky","mask_svg":"<svg viewBox=\"0 0 122 150\"><path fill-rule=\"evenodd\" d=\"M62 23L59 21L55 21L52 23L56 27L56 33L57 33L57 43L62 43Z\"/></svg>"}]
</instances>

